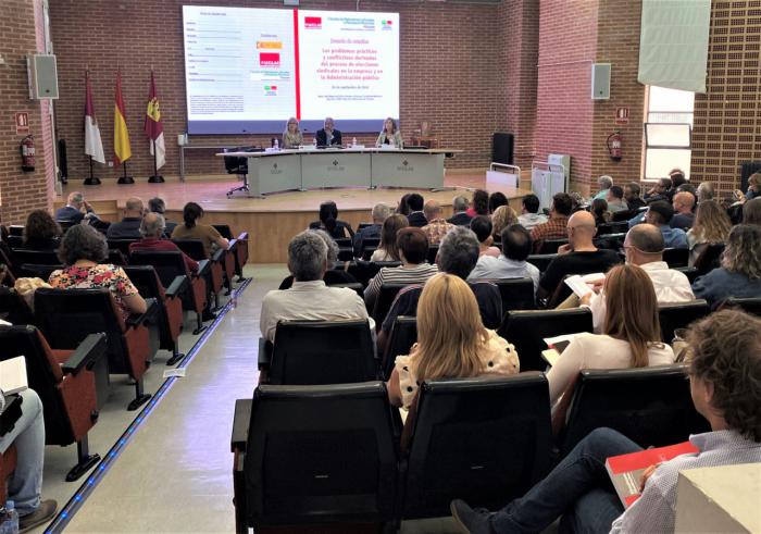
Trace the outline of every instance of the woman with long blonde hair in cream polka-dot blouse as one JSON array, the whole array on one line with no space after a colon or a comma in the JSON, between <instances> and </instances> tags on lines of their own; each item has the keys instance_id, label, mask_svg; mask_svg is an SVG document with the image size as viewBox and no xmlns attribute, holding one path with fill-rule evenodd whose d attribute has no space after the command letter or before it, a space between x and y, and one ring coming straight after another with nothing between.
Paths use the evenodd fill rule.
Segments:
<instances>
[{"instance_id":1,"label":"woman with long blonde hair in cream polka-dot blouse","mask_svg":"<svg viewBox=\"0 0 761 534\"><path fill-rule=\"evenodd\" d=\"M467 283L440 273L423 288L417 343L409 356L397 357L388 396L392 405L409 409L426 380L509 375L519 370L514 347L484 327Z\"/></svg>"}]
</instances>

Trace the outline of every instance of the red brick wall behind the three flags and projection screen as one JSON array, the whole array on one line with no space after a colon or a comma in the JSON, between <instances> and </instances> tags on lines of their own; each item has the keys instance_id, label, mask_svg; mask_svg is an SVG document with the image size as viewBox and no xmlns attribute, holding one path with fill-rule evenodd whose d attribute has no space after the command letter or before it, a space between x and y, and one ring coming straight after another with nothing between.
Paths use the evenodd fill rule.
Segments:
<instances>
[{"instance_id":1,"label":"red brick wall behind the three flags and projection screen","mask_svg":"<svg viewBox=\"0 0 761 534\"><path fill-rule=\"evenodd\" d=\"M528 0L527 0L528 1ZM142 134L151 65L155 70L166 140L165 175L178 174L177 134L185 129L185 78L182 5L208 0L51 2L52 37L59 59L61 99L57 105L60 135L68 145L70 176L84 177L83 154L84 71L89 66L98 121L107 160L113 153L113 84L122 70L127 126L133 145L129 171L136 177L150 174L152 160ZM250 1L224 0L227 5L251 7ZM266 0L257 7L277 8ZM353 0L302 1L302 9L353 10ZM495 94L503 83L498 63L509 61L498 46L506 29L498 5L431 2L363 1L362 10L398 11L400 14L401 131L409 138L422 120L434 124L441 146L462 149L449 166L486 166L491 158L491 134L502 127ZM502 122L500 122L502 121ZM370 141L372 136L358 136ZM269 142L253 139L253 142ZM250 137L194 136L191 142L249 145ZM219 160L194 152L186 160L191 174L220 174ZM118 170L101 166L101 177L116 177Z\"/></svg>"}]
</instances>

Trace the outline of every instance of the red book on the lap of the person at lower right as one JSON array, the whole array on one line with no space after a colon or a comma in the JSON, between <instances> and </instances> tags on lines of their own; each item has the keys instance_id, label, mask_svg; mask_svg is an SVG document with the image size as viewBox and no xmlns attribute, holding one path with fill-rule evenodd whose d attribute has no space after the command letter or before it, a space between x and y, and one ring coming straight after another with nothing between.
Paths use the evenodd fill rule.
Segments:
<instances>
[{"instance_id":1,"label":"red book on the lap of the person at lower right","mask_svg":"<svg viewBox=\"0 0 761 534\"><path fill-rule=\"evenodd\" d=\"M639 483L647 468L673 460L677 456L696 452L699 452L699 449L691 443L685 442L629 455L612 456L606 461L606 469L621 502L624 508L628 508L639 498Z\"/></svg>"}]
</instances>

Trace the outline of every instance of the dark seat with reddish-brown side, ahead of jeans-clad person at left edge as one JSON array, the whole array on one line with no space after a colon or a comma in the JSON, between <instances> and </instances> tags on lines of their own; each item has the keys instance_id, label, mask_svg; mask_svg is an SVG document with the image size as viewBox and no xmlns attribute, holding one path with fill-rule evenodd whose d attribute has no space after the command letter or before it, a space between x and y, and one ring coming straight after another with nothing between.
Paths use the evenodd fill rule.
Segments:
<instances>
[{"instance_id":1,"label":"dark seat with reddish-brown side, ahead of jeans-clad person at left edge","mask_svg":"<svg viewBox=\"0 0 761 534\"><path fill-rule=\"evenodd\" d=\"M87 433L98 421L91 369L105 357L105 334L89 334L73 350L51 350L34 326L0 326L0 360L26 359L29 388L42 401L46 445L77 444L77 464L66 481L79 479L100 461L98 455L89 454Z\"/></svg>"}]
</instances>

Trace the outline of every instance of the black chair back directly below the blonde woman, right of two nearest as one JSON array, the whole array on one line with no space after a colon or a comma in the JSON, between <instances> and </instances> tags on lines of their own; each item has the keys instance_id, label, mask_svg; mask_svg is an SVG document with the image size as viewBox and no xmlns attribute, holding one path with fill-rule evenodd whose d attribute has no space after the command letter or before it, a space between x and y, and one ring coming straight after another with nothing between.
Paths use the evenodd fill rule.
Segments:
<instances>
[{"instance_id":1,"label":"black chair back directly below the blonde woman, right of two nearest","mask_svg":"<svg viewBox=\"0 0 761 534\"><path fill-rule=\"evenodd\" d=\"M424 382L406 424L412 427L409 445L402 444L406 519L447 516L453 498L498 509L550 467L549 390L542 373Z\"/></svg>"}]
</instances>

